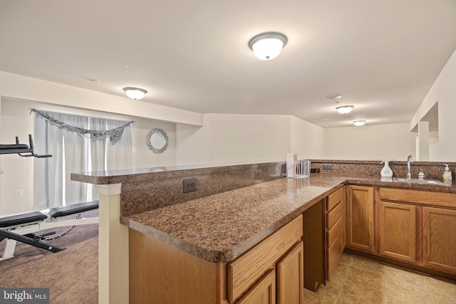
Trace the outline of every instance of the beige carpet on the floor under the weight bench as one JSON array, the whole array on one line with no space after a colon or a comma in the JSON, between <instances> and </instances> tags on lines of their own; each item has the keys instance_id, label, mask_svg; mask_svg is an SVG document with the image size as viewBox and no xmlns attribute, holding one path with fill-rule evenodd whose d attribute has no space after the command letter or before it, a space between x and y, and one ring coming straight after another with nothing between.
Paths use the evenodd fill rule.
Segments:
<instances>
[{"instance_id":1,"label":"beige carpet on the floor under the weight bench","mask_svg":"<svg viewBox=\"0 0 456 304\"><path fill-rule=\"evenodd\" d=\"M83 216L98 216L98 212ZM5 243L0 242L0 253ZM50 303L55 304L98 303L98 224L76 226L48 243L66 250L52 253L18 242L14 258L0 261L0 287L49 288Z\"/></svg>"}]
</instances>

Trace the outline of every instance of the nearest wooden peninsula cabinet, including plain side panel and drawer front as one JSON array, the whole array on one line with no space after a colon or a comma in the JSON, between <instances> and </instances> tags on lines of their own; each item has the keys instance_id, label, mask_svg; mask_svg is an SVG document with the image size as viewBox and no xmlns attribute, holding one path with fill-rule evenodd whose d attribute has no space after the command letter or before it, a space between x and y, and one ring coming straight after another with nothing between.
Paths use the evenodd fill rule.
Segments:
<instances>
[{"instance_id":1,"label":"nearest wooden peninsula cabinet, including plain side panel and drawer front","mask_svg":"<svg viewBox=\"0 0 456 304\"><path fill-rule=\"evenodd\" d=\"M130 229L130 303L303 303L302 225L299 215L229 263Z\"/></svg>"}]
</instances>

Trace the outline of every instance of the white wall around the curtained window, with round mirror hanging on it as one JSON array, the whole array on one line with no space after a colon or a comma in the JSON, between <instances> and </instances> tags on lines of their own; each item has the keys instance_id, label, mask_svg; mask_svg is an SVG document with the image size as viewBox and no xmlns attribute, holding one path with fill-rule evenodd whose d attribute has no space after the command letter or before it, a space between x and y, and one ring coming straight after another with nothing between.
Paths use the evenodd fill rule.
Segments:
<instances>
[{"instance_id":1,"label":"white wall around the curtained window, with round mirror hanging on it","mask_svg":"<svg viewBox=\"0 0 456 304\"><path fill-rule=\"evenodd\" d=\"M104 117L115 120L134 120L133 126L133 167L160 167L175 164L176 132L175 124L141 117L116 115L93 110L68 108L31 100L13 98L1 99L0 137L2 144L13 144L18 136L21 143L28 145L28 134L33 136L33 115L30 108L66 112L76 115ZM152 153L146 145L145 137L149 130L159 127L167 132L169 145L162 154ZM35 147L40 145L34 142ZM33 210L33 162L42 159L19 157L17 154L1 155L0 215L15 214ZM16 190L22 189L23 196L16 196Z\"/></svg>"}]
</instances>

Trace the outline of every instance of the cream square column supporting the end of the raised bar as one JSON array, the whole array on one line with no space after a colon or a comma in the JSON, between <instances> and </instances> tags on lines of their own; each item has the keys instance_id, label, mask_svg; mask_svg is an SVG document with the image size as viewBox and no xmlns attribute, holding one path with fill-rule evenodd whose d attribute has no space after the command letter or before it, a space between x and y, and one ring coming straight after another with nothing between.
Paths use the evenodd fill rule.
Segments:
<instances>
[{"instance_id":1,"label":"cream square column supporting the end of the raised bar","mask_svg":"<svg viewBox=\"0 0 456 304\"><path fill-rule=\"evenodd\" d=\"M128 227L120 224L122 184L97 184L98 303L128 303Z\"/></svg>"}]
</instances>

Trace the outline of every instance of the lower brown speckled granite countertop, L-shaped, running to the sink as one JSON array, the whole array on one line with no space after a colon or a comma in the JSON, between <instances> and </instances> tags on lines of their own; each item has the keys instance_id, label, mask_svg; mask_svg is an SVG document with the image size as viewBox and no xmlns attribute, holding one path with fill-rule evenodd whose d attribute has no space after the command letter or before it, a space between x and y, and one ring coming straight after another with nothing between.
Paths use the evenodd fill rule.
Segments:
<instances>
[{"instance_id":1,"label":"lower brown speckled granite countertop, L-shaped, running to the sink","mask_svg":"<svg viewBox=\"0 0 456 304\"><path fill-rule=\"evenodd\" d=\"M342 184L379 185L456 192L451 187L398 183L366 175L311 174L144 211L121 222L214 263L234 260Z\"/></svg>"}]
</instances>

